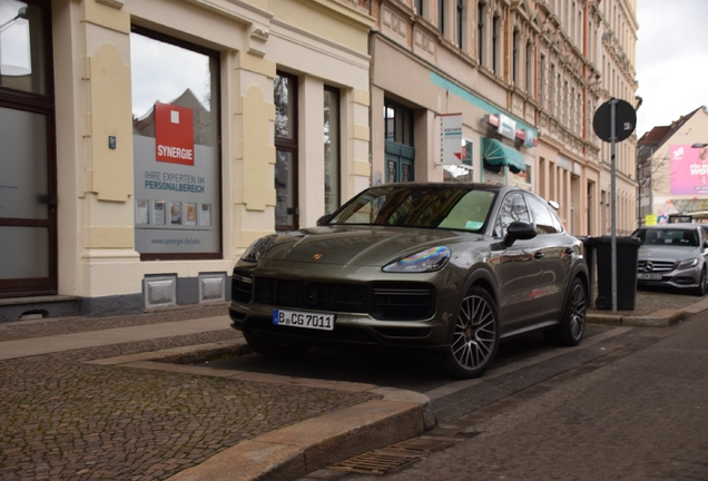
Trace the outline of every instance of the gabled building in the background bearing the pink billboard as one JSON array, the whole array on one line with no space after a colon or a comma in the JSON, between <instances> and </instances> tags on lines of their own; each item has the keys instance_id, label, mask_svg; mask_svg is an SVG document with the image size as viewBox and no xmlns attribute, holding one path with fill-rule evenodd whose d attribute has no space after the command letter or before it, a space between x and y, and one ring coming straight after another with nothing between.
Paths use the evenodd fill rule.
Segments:
<instances>
[{"instance_id":1,"label":"gabled building in the background bearing the pink billboard","mask_svg":"<svg viewBox=\"0 0 708 481\"><path fill-rule=\"evenodd\" d=\"M641 136L638 224L708 223L708 110L699 107Z\"/></svg>"}]
</instances>

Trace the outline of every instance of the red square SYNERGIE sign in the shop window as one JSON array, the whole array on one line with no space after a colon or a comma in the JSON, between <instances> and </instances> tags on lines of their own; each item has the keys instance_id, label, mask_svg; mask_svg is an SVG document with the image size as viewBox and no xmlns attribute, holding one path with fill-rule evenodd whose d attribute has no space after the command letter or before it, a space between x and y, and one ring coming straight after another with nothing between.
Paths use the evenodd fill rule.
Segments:
<instances>
[{"instance_id":1,"label":"red square SYNERGIE sign in the shop window","mask_svg":"<svg viewBox=\"0 0 708 481\"><path fill-rule=\"evenodd\" d=\"M155 104L155 158L194 165L194 112L190 108Z\"/></svg>"}]
</instances>

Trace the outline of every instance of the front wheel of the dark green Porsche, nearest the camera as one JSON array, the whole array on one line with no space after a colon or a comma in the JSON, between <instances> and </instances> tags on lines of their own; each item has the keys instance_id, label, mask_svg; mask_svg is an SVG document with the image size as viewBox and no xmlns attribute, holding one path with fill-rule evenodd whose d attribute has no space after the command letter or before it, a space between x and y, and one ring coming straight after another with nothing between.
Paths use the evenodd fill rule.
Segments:
<instances>
[{"instance_id":1,"label":"front wheel of the dark green Porsche, nearest the camera","mask_svg":"<svg viewBox=\"0 0 708 481\"><path fill-rule=\"evenodd\" d=\"M485 289L473 286L458 312L452 344L443 361L445 373L458 379L476 377L494 361L498 350L496 304Z\"/></svg>"}]
</instances>

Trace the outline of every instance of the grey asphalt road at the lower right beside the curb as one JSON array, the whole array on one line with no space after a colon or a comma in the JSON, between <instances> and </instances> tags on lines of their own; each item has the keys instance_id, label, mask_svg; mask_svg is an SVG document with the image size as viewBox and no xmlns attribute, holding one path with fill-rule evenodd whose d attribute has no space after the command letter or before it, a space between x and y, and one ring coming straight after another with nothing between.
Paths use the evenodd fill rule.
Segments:
<instances>
[{"instance_id":1,"label":"grey asphalt road at the lower right beside the curb","mask_svg":"<svg viewBox=\"0 0 708 481\"><path fill-rule=\"evenodd\" d=\"M302 481L708 480L708 314L618 330L559 355L530 347L473 386L429 391L440 426L427 435L459 441L446 449L383 477L321 470Z\"/></svg>"}]
</instances>

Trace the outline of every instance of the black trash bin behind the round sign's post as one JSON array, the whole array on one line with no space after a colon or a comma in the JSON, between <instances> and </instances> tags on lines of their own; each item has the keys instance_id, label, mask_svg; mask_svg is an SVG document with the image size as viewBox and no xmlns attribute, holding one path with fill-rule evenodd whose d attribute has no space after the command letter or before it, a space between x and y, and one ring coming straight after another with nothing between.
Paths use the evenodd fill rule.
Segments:
<instances>
[{"instance_id":1,"label":"black trash bin behind the round sign's post","mask_svg":"<svg viewBox=\"0 0 708 481\"><path fill-rule=\"evenodd\" d=\"M617 310L633 311L637 301L637 257L641 240L635 237L617 237ZM612 237L591 239L597 256L599 310L612 308Z\"/></svg>"}]
</instances>

